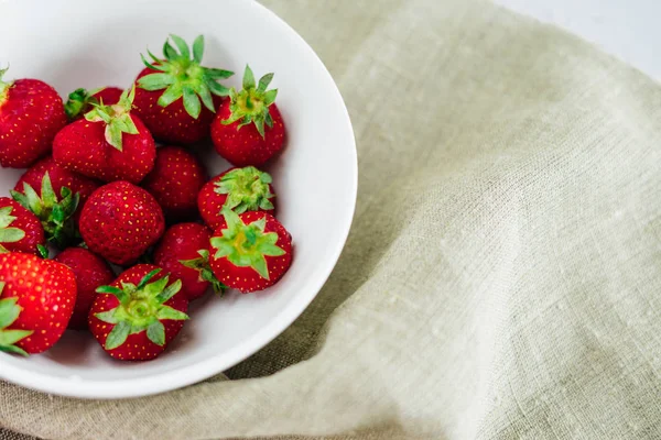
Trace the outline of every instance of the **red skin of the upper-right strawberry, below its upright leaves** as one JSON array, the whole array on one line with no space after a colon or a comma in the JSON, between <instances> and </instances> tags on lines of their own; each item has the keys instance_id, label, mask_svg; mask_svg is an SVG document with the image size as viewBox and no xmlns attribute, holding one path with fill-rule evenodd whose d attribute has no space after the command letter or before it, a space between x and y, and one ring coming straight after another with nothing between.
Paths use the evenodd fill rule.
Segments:
<instances>
[{"instance_id":1,"label":"red skin of the upper-right strawberry, below its upright leaves","mask_svg":"<svg viewBox=\"0 0 661 440\"><path fill-rule=\"evenodd\" d=\"M224 100L212 123L212 140L216 152L235 166L261 166L275 156L284 146L285 129L280 110L275 105L269 107L273 127L266 127L264 138L253 123L239 129L239 121L225 125L230 118L230 102Z\"/></svg>"}]
</instances>

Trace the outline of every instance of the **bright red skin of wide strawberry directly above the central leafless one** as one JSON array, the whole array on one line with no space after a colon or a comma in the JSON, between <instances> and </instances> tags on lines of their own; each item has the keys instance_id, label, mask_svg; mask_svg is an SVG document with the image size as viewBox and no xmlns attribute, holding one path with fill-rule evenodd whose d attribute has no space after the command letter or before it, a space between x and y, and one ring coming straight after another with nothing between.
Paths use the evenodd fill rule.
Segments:
<instances>
[{"instance_id":1,"label":"bright red skin of wide strawberry directly above the central leafless one","mask_svg":"<svg viewBox=\"0 0 661 440\"><path fill-rule=\"evenodd\" d=\"M140 183L154 166L156 146L142 121L134 114L131 120L138 134L122 134L122 151L106 141L104 122L80 119L68 124L53 142L55 162L71 172L107 183Z\"/></svg>"}]
</instances>

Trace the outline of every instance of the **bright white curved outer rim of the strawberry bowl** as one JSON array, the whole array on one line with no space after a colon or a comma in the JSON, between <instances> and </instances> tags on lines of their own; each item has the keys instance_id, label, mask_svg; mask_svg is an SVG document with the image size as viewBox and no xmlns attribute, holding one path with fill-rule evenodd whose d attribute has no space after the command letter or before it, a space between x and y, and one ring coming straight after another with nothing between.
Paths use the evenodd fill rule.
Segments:
<instances>
[{"instance_id":1,"label":"bright white curved outer rim of the strawberry bowl","mask_svg":"<svg viewBox=\"0 0 661 440\"><path fill-rule=\"evenodd\" d=\"M324 62L310 46L310 44L307 44L307 42L283 19L281 19L267 7L257 1L249 1L245 3L250 3L249 8L253 8L256 13L268 15L270 20L273 21L274 25L284 28L286 32L295 35L295 38L302 43L302 47L308 51L310 55L321 64L323 67L323 75L326 76L326 79L330 80L330 84L335 88L335 92L339 96L343 103L342 118L344 119L344 124L346 124L349 130L349 141L351 144L350 153L353 160L350 164L347 164L350 176L346 177L350 178L348 184L353 200L350 201L349 209L347 209L343 215L342 224L344 230L342 231L342 240L337 241L337 243L334 245L334 249L330 253L332 256L328 258L332 264L328 265L325 272L317 276L317 282L314 284L314 287L310 289L310 294L307 296L299 298L299 300L289 304L288 307L285 307L268 326L260 329L250 339L229 351L224 351L221 353L212 355L210 358L205 359L196 364L172 369L163 373L153 374L149 377L136 377L127 380L117 378L112 381L82 380L77 376L48 376L43 373L23 370L18 365L3 364L2 369L0 369L1 378L26 388L63 397L76 397L84 399L137 398L182 388L217 375L263 349L284 330L286 330L286 328L289 328L294 320L301 316L301 314L303 314L303 311L307 308L307 306L310 306L313 299L321 292L322 287L325 285L326 280L337 265L337 261L339 260L339 256L344 250L354 221L354 215L356 212L356 202L358 198L358 153L356 148L354 127L337 84L333 79L333 76L328 72L328 68Z\"/></svg>"}]
</instances>

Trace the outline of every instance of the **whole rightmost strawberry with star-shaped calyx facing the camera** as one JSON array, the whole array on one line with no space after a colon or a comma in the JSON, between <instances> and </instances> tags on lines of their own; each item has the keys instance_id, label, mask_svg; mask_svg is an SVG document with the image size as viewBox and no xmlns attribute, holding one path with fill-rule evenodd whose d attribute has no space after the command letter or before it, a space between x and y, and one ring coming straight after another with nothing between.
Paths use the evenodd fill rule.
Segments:
<instances>
[{"instance_id":1,"label":"whole rightmost strawberry with star-shaped calyx facing the camera","mask_svg":"<svg viewBox=\"0 0 661 440\"><path fill-rule=\"evenodd\" d=\"M225 223L210 240L209 263L216 277L247 294L278 283L292 264L292 237L268 212L237 215L225 210Z\"/></svg>"}]
</instances>

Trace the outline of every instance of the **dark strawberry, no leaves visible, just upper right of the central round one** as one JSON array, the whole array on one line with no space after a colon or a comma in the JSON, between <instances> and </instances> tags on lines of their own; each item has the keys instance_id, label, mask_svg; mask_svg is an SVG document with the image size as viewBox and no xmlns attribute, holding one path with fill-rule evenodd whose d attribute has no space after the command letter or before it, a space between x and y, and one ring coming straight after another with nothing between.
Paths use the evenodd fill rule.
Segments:
<instances>
[{"instance_id":1,"label":"dark strawberry, no leaves visible, just upper right of the central round one","mask_svg":"<svg viewBox=\"0 0 661 440\"><path fill-rule=\"evenodd\" d=\"M204 186L207 174L197 157L181 146L156 150L154 169L142 187L156 199L165 217L181 220L197 215L195 197Z\"/></svg>"}]
</instances>

